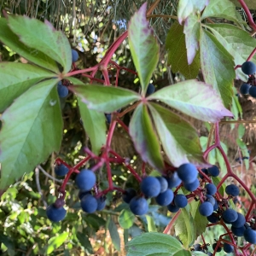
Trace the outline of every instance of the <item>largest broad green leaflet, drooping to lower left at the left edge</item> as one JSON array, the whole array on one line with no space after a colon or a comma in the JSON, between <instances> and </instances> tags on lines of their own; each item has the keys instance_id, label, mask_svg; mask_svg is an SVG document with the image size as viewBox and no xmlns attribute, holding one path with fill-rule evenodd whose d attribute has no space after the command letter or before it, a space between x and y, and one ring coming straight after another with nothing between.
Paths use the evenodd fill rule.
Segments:
<instances>
[{"instance_id":1,"label":"largest broad green leaflet, drooping to lower left at the left edge","mask_svg":"<svg viewBox=\"0 0 256 256\"><path fill-rule=\"evenodd\" d=\"M55 80L32 86L3 113L0 188L47 159L61 146L62 118Z\"/></svg>"}]
</instances>

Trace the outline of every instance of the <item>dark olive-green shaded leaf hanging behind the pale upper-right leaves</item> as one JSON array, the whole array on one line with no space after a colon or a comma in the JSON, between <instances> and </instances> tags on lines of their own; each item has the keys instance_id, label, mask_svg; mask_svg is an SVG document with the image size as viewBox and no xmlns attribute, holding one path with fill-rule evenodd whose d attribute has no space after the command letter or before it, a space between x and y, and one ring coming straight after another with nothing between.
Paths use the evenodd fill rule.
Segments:
<instances>
[{"instance_id":1,"label":"dark olive-green shaded leaf hanging behind the pale upper-right leaves","mask_svg":"<svg viewBox=\"0 0 256 256\"><path fill-rule=\"evenodd\" d=\"M166 50L168 52L168 65L172 72L180 72L186 79L195 79L200 69L200 57L197 52L194 61L189 65L183 26L175 22L166 37Z\"/></svg>"}]
</instances>

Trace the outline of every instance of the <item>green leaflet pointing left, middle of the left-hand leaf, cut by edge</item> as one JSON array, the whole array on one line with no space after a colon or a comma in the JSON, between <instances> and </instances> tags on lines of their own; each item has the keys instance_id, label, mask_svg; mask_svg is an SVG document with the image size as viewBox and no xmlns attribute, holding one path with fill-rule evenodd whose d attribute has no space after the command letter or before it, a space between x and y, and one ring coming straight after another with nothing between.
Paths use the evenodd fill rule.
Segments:
<instances>
[{"instance_id":1,"label":"green leaflet pointing left, middle of the left-hand leaf, cut by edge","mask_svg":"<svg viewBox=\"0 0 256 256\"><path fill-rule=\"evenodd\" d=\"M1 62L0 113L29 87L52 76L53 73L30 64ZM57 80L55 80L55 83L57 83Z\"/></svg>"}]
</instances>

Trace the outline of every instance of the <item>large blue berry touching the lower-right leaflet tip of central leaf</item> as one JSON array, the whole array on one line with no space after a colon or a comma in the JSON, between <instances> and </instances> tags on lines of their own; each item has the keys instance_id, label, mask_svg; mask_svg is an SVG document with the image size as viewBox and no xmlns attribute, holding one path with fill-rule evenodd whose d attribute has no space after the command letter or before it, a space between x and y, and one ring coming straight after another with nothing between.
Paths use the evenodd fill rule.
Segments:
<instances>
[{"instance_id":1,"label":"large blue berry touching the lower-right leaflet tip of central leaf","mask_svg":"<svg viewBox=\"0 0 256 256\"><path fill-rule=\"evenodd\" d=\"M197 169L190 163L183 164L177 168L177 176L183 183L194 183L197 179L197 174Z\"/></svg>"}]
</instances>

